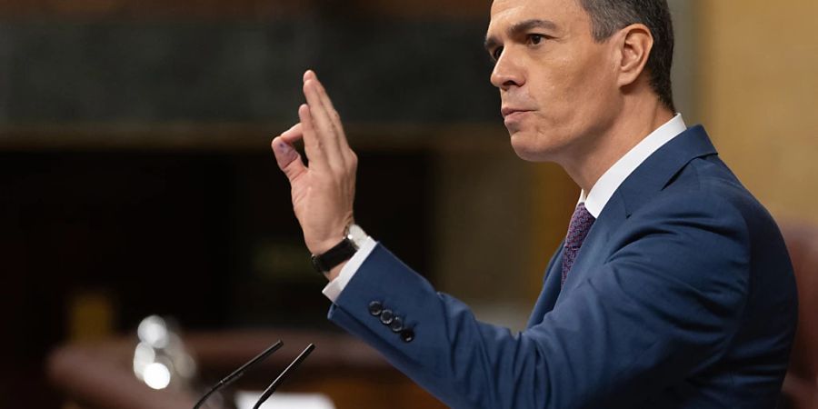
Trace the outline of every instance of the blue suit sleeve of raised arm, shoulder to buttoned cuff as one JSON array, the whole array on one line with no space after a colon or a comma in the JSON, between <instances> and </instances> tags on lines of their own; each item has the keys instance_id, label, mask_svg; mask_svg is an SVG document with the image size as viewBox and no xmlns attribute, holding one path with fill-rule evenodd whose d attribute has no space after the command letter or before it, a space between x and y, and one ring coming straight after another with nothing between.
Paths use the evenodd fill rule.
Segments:
<instances>
[{"instance_id":1,"label":"blue suit sleeve of raised arm, shoulder to buttoned cuff","mask_svg":"<svg viewBox=\"0 0 818 409\"><path fill-rule=\"evenodd\" d=\"M329 318L454 408L628 407L717 360L748 293L748 234L718 197L653 201L592 278L520 334L478 322L378 245ZM378 302L414 339L370 314Z\"/></svg>"}]
</instances>

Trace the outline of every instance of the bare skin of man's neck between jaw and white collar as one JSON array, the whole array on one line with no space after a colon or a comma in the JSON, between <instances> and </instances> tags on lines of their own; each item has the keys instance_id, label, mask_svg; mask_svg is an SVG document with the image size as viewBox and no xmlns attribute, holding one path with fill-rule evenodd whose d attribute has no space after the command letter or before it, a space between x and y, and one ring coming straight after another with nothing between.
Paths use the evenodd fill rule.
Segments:
<instances>
[{"instance_id":1,"label":"bare skin of man's neck between jaw and white collar","mask_svg":"<svg viewBox=\"0 0 818 409\"><path fill-rule=\"evenodd\" d=\"M587 194L616 161L671 119L673 113L654 98L626 101L610 126L577 146L560 165Z\"/></svg>"}]
</instances>

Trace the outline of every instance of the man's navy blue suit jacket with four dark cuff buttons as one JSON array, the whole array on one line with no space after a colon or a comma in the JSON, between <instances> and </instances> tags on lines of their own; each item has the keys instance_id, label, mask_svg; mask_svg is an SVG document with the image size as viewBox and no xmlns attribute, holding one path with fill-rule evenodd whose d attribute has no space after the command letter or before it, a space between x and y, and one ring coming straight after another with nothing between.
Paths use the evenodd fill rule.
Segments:
<instances>
[{"instance_id":1,"label":"man's navy blue suit jacket with four dark cuff buttons","mask_svg":"<svg viewBox=\"0 0 818 409\"><path fill-rule=\"evenodd\" d=\"M511 334L379 244L329 318L455 408L775 406L795 326L793 267L773 218L701 126L624 181L562 288L560 265L558 252L528 328ZM370 313L373 302L411 341Z\"/></svg>"}]
</instances>

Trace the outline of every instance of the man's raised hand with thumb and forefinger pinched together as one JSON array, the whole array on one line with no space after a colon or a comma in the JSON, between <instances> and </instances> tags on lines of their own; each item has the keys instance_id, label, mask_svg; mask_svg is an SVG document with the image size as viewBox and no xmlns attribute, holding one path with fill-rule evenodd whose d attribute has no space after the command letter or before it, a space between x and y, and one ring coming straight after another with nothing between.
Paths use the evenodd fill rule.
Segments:
<instances>
[{"instance_id":1,"label":"man's raised hand with thumb and forefinger pinched together","mask_svg":"<svg viewBox=\"0 0 818 409\"><path fill-rule=\"evenodd\" d=\"M295 217L312 254L321 254L344 238L353 223L355 170L358 158L346 142L341 117L313 71L304 73L306 104L298 107L300 123L273 139L278 167L292 187ZM304 139L304 165L294 143ZM335 270L340 270L335 269ZM334 278L337 271L330 274Z\"/></svg>"}]
</instances>

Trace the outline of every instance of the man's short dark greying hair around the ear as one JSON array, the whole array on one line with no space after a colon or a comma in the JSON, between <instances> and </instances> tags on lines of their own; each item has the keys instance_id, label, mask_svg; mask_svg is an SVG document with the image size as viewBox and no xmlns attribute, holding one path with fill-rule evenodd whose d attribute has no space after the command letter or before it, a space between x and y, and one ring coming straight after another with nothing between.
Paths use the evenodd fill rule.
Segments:
<instances>
[{"instance_id":1,"label":"man's short dark greying hair around the ear","mask_svg":"<svg viewBox=\"0 0 818 409\"><path fill-rule=\"evenodd\" d=\"M603 42L628 25L643 24L653 35L646 70L659 101L675 112L671 86L673 21L667 0L578 0L591 16L594 40Z\"/></svg>"}]
</instances>

